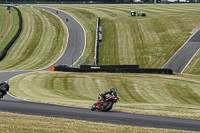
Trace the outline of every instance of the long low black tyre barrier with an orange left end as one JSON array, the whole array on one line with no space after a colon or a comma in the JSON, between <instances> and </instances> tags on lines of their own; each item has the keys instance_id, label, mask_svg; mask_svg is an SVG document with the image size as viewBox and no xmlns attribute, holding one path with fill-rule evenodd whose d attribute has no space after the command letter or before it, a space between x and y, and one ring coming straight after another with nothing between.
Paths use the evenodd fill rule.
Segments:
<instances>
[{"instance_id":1,"label":"long low black tyre barrier with an orange left end","mask_svg":"<svg viewBox=\"0 0 200 133\"><path fill-rule=\"evenodd\" d=\"M129 66L129 67L128 67ZM80 68L72 68L65 65L52 66L51 71L63 72L107 72L107 73L156 73L156 74L173 74L171 69L151 69L151 68L136 68L138 65L114 65L111 66L81 66Z\"/></svg>"}]
</instances>

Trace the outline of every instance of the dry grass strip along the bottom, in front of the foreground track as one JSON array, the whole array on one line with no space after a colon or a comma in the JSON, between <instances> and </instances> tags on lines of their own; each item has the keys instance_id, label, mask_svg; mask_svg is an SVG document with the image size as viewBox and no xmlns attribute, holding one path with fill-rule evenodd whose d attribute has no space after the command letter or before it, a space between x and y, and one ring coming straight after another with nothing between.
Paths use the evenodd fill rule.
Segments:
<instances>
[{"instance_id":1,"label":"dry grass strip along the bottom, in front of the foreground track","mask_svg":"<svg viewBox=\"0 0 200 133\"><path fill-rule=\"evenodd\" d=\"M0 130L3 133L191 133L191 131L103 124L81 120L27 116L4 112L0 112L0 120Z\"/></svg>"}]
</instances>

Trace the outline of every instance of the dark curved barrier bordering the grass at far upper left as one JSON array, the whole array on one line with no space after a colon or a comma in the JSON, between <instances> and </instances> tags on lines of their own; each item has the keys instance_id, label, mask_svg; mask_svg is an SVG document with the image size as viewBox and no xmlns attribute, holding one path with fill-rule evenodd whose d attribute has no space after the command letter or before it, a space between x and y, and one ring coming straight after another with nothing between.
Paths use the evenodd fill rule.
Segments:
<instances>
[{"instance_id":1,"label":"dark curved barrier bordering the grass at far upper left","mask_svg":"<svg viewBox=\"0 0 200 133\"><path fill-rule=\"evenodd\" d=\"M17 40L17 38L19 37L19 35L22 32L22 15L21 12L19 11L19 9L17 9L16 7L13 7L17 10L18 12L18 16L19 16L19 29L17 31L17 33L15 34L15 36L12 38L12 40L8 43L8 45L5 47L5 49L3 50L3 52L0 55L0 61L2 61L4 59L4 57L6 56L8 50L12 47L12 45L15 43L15 41Z\"/></svg>"}]
</instances>

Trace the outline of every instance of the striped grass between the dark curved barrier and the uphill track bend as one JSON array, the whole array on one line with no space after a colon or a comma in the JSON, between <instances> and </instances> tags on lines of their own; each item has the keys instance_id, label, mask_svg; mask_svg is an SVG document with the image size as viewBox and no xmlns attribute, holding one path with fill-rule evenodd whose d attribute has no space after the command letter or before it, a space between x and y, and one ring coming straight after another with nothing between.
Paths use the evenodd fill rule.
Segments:
<instances>
[{"instance_id":1,"label":"striped grass between the dark curved barrier and the uphill track bend","mask_svg":"<svg viewBox=\"0 0 200 133\"><path fill-rule=\"evenodd\" d=\"M0 62L1 70L30 70L51 65L66 47L67 30L64 24L49 12L20 7L23 31Z\"/></svg>"}]
</instances>

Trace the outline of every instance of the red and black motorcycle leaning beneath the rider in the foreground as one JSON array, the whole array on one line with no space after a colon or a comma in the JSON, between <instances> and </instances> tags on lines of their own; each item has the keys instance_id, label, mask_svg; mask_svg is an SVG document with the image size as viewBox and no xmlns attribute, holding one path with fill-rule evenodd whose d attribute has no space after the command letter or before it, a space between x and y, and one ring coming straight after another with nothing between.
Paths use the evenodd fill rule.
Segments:
<instances>
[{"instance_id":1,"label":"red and black motorcycle leaning beneath the rider in the foreground","mask_svg":"<svg viewBox=\"0 0 200 133\"><path fill-rule=\"evenodd\" d=\"M110 111L113 107L113 104L116 103L119 98L117 96L106 95L104 102L101 100L101 95L98 97L98 101L92 105L91 110L102 110L102 111Z\"/></svg>"}]
</instances>

